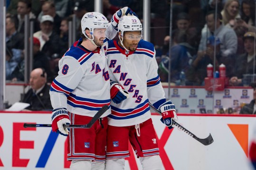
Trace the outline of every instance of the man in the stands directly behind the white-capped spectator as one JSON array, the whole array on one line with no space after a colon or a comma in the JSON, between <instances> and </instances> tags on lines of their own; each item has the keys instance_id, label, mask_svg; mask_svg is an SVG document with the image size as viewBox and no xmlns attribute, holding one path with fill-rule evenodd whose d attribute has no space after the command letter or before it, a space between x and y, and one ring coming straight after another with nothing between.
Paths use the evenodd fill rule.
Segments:
<instances>
[{"instance_id":1,"label":"man in the stands directly behind the white-capped spectator","mask_svg":"<svg viewBox=\"0 0 256 170\"><path fill-rule=\"evenodd\" d=\"M43 15L49 15L53 18L54 22L53 22L53 30L59 34L60 30L60 22L61 22L61 18L59 17L59 15L56 13L56 8L55 8L55 4L52 1L46 1L44 2L44 4L42 5L42 15L38 16L38 20L40 21L42 19Z\"/></svg>"}]
</instances>

